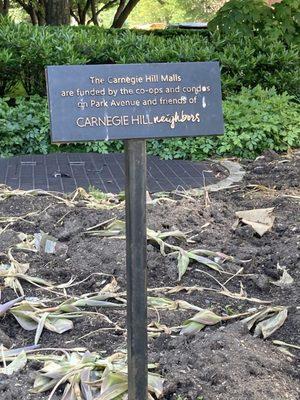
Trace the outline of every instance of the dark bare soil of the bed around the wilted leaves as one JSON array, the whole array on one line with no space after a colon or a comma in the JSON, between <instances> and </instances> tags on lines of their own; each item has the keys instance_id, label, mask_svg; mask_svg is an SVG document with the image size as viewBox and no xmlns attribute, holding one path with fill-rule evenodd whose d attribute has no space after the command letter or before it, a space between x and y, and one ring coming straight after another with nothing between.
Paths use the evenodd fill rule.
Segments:
<instances>
[{"instance_id":1,"label":"dark bare soil of the bed around the wilted leaves","mask_svg":"<svg viewBox=\"0 0 300 400\"><path fill-rule=\"evenodd\" d=\"M220 294L220 283L230 275L219 274L199 263L190 264L182 281L177 281L177 260L164 257L159 248L148 244L148 287L195 287L216 291L182 290L167 293L167 289L152 291L152 296L188 301L218 315L247 312L262 305L253 299L269 301L270 305L287 306L288 317L270 338L254 338L239 320L206 327L201 332L185 336L165 333L149 338L149 361L158 363L157 372L165 378L164 400L297 400L300 398L300 352L292 355L279 351L273 340L300 345L300 153L277 155L266 153L256 161L243 161L246 176L233 188L191 197L188 193L170 195L169 199L148 206L148 227L156 231L180 230L194 243L168 239L168 243L185 249L206 249L233 256L223 264L226 272L243 275L233 277L226 287L247 299ZM91 209L78 201L69 207L51 196L14 195L1 197L0 217L17 217L31 212L24 219L0 224L0 264L7 263L7 252L20 242L18 233L33 235L40 231L56 237L67 251L57 254L14 251L21 263L29 263L28 274L56 283L89 279L67 289L68 295L99 292L113 277L126 288L125 241L91 237L85 230L116 217L124 219L124 208ZM175 200L175 201L174 201ZM275 223L260 237L249 225L236 222L236 211L274 208ZM40 211L40 212L39 212ZM1 221L1 220L0 220ZM5 228L1 232L1 228ZM243 261L243 262L242 262ZM246 262L245 262L246 261ZM282 288L274 285L286 267L293 283ZM102 275L100 275L100 273ZM232 276L232 275L231 275ZM13 290L2 285L1 302L16 297ZM28 297L41 300L54 294L23 284ZM251 300L252 299L252 300ZM96 310L94 310L96 311ZM42 348L85 347L110 355L126 347L126 313L124 309L98 309L121 329L103 330L110 325L100 315L74 320L74 329L62 335L45 330L40 339ZM159 322L167 327L181 325L193 316L190 310L149 310L149 324ZM23 330L13 316L0 321L0 342L5 347L33 344L34 332ZM82 338L85 336L84 338ZM30 394L35 371L41 367L29 362L21 372L7 377L0 375L0 399L44 400L49 393ZM59 400L59 392L53 400ZM136 399L138 400L138 399Z\"/></svg>"}]
</instances>

